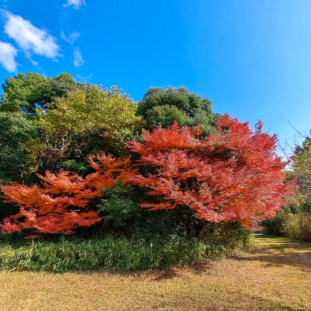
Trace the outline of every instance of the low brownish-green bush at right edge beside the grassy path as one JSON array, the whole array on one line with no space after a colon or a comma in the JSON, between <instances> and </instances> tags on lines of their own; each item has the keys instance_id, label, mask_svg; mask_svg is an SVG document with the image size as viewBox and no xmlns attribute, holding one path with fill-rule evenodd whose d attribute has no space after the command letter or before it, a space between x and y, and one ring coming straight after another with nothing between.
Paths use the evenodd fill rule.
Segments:
<instances>
[{"instance_id":1,"label":"low brownish-green bush at right edge beside the grassy path","mask_svg":"<svg viewBox=\"0 0 311 311\"><path fill-rule=\"evenodd\" d=\"M311 241L311 213L289 215L284 221L284 233L292 239Z\"/></svg>"}]
</instances>

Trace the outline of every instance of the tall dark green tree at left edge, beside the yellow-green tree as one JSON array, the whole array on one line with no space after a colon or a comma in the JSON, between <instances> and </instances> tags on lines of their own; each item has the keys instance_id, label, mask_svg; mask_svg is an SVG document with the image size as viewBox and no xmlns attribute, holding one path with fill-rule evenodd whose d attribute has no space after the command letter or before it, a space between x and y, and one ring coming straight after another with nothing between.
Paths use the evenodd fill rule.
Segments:
<instances>
[{"instance_id":1,"label":"tall dark green tree at left edge, beside the yellow-green tree","mask_svg":"<svg viewBox=\"0 0 311 311\"><path fill-rule=\"evenodd\" d=\"M8 77L2 84L0 98L0 179L25 182L33 180L36 170L29 161L24 144L40 141L42 132L37 126L36 109L46 109L55 97L65 97L68 91L87 89L86 83L75 81L72 76L62 73L54 78L39 73L18 73ZM0 201L0 218L10 210Z\"/></svg>"}]
</instances>

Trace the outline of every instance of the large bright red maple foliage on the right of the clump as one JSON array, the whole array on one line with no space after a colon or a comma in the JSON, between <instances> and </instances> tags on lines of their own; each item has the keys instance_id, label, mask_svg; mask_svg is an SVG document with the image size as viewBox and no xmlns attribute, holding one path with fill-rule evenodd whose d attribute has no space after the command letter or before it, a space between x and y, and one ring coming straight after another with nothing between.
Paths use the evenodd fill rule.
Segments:
<instances>
[{"instance_id":1,"label":"large bright red maple foliage on the right of the clump","mask_svg":"<svg viewBox=\"0 0 311 311\"><path fill-rule=\"evenodd\" d=\"M152 174L128 176L132 183L149 187L150 209L186 205L207 221L237 221L251 227L254 220L275 215L291 193L284 183L285 164L276 154L276 135L253 132L248 123L224 115L217 134L199 139L200 128L157 128L146 132L143 143L127 146L141 155L138 166L156 167ZM160 201L159 201L160 197Z\"/></svg>"}]
</instances>

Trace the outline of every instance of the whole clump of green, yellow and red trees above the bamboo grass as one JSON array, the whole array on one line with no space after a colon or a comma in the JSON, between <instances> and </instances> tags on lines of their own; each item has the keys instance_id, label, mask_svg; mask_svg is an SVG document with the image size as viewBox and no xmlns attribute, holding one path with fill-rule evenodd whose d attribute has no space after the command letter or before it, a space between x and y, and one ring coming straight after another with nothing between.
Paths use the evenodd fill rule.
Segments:
<instances>
[{"instance_id":1,"label":"whole clump of green, yellow and red trees above the bamboo grass","mask_svg":"<svg viewBox=\"0 0 311 311\"><path fill-rule=\"evenodd\" d=\"M131 248L178 236L226 253L294 188L261 122L253 131L184 87L150 87L138 103L67 73L17 74L2 88L2 240L122 236Z\"/></svg>"}]
</instances>

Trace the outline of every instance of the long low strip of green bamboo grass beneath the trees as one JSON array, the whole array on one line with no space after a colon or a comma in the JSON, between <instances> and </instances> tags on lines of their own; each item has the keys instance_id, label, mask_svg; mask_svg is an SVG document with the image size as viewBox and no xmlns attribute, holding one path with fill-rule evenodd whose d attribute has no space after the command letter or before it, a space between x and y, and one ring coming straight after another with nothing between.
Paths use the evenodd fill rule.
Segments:
<instances>
[{"instance_id":1,"label":"long low strip of green bamboo grass beneath the trees","mask_svg":"<svg viewBox=\"0 0 311 311\"><path fill-rule=\"evenodd\" d=\"M1 237L0 237L1 239ZM126 239L109 236L89 240L62 237L56 242L0 242L0 269L66 272L72 270L162 269L247 249L250 234L214 235L205 241L189 235ZM226 243L226 244L224 244ZM244 248L244 249L243 249Z\"/></svg>"}]
</instances>

